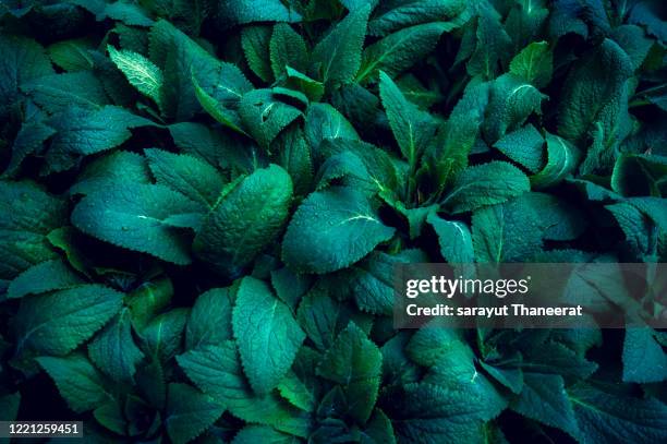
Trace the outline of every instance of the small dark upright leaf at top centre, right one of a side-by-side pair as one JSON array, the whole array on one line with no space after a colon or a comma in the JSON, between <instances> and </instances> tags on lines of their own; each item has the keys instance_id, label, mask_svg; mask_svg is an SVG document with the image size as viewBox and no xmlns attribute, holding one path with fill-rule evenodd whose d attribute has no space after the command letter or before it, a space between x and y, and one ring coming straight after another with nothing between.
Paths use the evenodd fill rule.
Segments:
<instances>
[{"instance_id":1,"label":"small dark upright leaf at top centre, right one of a side-by-side pair","mask_svg":"<svg viewBox=\"0 0 667 444\"><path fill-rule=\"evenodd\" d=\"M269 51L271 70L276 79L280 79L286 74L288 65L298 71L306 69L308 55L305 41L287 23L278 23L274 26Z\"/></svg>"}]
</instances>

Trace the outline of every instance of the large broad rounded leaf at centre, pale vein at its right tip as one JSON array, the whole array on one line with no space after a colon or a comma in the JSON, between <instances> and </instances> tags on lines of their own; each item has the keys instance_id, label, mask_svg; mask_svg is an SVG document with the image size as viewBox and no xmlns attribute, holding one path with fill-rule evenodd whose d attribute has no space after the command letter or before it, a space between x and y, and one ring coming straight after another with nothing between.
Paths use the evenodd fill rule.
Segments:
<instances>
[{"instance_id":1,"label":"large broad rounded leaf at centre, pale vein at its right tip","mask_svg":"<svg viewBox=\"0 0 667 444\"><path fill-rule=\"evenodd\" d=\"M344 268L393 236L371 202L350 188L312 193L294 213L282 242L282 259L295 271L330 273Z\"/></svg>"}]
</instances>

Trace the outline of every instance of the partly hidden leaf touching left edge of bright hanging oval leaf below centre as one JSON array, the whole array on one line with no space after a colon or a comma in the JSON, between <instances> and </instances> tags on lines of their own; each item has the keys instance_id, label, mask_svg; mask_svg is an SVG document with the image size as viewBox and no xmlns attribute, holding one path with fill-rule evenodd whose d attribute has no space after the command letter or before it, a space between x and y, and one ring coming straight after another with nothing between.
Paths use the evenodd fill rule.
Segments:
<instances>
[{"instance_id":1,"label":"partly hidden leaf touching left edge of bright hanging oval leaf below centre","mask_svg":"<svg viewBox=\"0 0 667 444\"><path fill-rule=\"evenodd\" d=\"M220 344L232 338L232 299L227 288L214 288L196 299L185 327L185 349Z\"/></svg>"}]
</instances>

